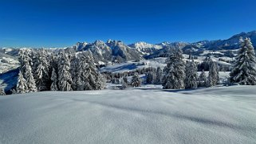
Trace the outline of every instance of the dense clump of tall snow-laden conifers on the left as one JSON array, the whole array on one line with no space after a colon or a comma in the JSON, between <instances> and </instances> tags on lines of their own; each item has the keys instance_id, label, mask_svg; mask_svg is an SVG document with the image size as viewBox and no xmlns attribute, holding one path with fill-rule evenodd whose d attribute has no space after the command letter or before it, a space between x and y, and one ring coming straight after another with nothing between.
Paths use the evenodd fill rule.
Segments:
<instances>
[{"instance_id":1,"label":"dense clump of tall snow-laden conifers on the left","mask_svg":"<svg viewBox=\"0 0 256 144\"><path fill-rule=\"evenodd\" d=\"M13 93L34 91L84 91L104 88L104 78L90 52L49 53L45 49L20 49L18 84Z\"/></svg>"}]
</instances>

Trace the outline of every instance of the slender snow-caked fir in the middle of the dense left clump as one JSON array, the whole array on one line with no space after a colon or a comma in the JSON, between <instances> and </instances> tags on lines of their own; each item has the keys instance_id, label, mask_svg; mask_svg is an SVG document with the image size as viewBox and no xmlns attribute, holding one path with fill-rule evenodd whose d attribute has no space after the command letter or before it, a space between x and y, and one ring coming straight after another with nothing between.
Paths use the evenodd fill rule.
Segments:
<instances>
[{"instance_id":1,"label":"slender snow-caked fir in the middle of the dense left clump","mask_svg":"<svg viewBox=\"0 0 256 144\"><path fill-rule=\"evenodd\" d=\"M69 72L70 61L69 56L64 51L59 53L58 58L58 87L60 91L72 91L72 77Z\"/></svg>"}]
</instances>

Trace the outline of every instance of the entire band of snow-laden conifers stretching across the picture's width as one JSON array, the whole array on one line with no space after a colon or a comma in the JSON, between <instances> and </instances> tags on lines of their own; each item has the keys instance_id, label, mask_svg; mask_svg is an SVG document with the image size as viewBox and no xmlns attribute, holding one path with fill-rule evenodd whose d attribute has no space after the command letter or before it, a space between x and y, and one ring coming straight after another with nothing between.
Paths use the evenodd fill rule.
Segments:
<instances>
[{"instance_id":1,"label":"entire band of snow-laden conifers stretching across the picture's width","mask_svg":"<svg viewBox=\"0 0 256 144\"><path fill-rule=\"evenodd\" d=\"M163 89L194 89L211 87L219 83L219 65L207 59L202 67L195 60L183 60L181 49L171 49L167 66L142 68L131 72L100 74L90 51L67 53L45 49L20 49L18 84L12 93L34 91L85 91L100 90L105 82L122 84L122 88L140 87L140 75L145 74L145 84L162 84ZM201 64L201 65L202 65ZM256 60L250 38L240 40L240 49L230 69L229 84L255 85ZM199 69L201 68L201 69ZM204 69L207 68L207 69ZM198 76L198 71L201 73ZM208 76L205 71L209 71ZM128 76L132 76L128 80ZM5 91L0 88L0 95Z\"/></svg>"}]
</instances>

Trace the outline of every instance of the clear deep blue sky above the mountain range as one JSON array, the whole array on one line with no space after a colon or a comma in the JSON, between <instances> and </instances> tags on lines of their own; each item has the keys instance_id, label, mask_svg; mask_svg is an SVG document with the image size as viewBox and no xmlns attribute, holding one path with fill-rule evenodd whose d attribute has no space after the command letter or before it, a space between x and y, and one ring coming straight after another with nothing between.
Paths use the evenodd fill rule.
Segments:
<instances>
[{"instance_id":1,"label":"clear deep blue sky above the mountain range","mask_svg":"<svg viewBox=\"0 0 256 144\"><path fill-rule=\"evenodd\" d=\"M199 41L256 30L255 0L0 0L0 47Z\"/></svg>"}]
</instances>

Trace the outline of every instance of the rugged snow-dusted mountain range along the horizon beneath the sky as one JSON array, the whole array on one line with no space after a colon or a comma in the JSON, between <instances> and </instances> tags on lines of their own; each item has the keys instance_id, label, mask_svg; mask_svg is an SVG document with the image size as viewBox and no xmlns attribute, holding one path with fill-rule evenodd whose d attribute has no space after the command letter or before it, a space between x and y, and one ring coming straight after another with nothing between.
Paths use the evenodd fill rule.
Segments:
<instances>
[{"instance_id":1,"label":"rugged snow-dusted mountain range along the horizon beneath the sky","mask_svg":"<svg viewBox=\"0 0 256 144\"><path fill-rule=\"evenodd\" d=\"M198 41L195 43L188 42L162 42L160 44L149 44L144 41L135 44L126 45L123 41L108 40L95 41L93 43L77 42L76 45L67 48L70 53L81 51L90 51L98 64L120 63L128 60L143 60L155 57L167 56L170 49L180 48L183 53L199 55L206 50L211 51L231 51L238 49L240 37L249 37L254 48L256 48L256 31L249 33L239 33L226 40L216 41ZM53 50L53 49L51 49ZM18 49L3 48L0 49L0 56L17 56ZM2 59L2 57L0 57Z\"/></svg>"}]
</instances>

